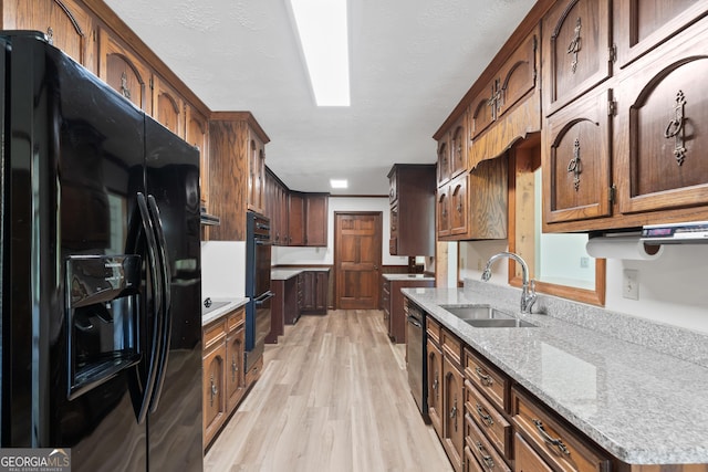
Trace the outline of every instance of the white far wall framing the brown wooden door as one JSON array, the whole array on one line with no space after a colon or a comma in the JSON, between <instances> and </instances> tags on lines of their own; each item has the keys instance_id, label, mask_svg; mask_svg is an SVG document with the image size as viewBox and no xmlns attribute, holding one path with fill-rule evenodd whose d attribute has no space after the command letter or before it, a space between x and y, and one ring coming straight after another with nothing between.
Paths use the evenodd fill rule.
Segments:
<instances>
[{"instance_id":1,"label":"white far wall framing the brown wooden door","mask_svg":"<svg viewBox=\"0 0 708 472\"><path fill-rule=\"evenodd\" d=\"M384 265L408 265L408 258L388 254L388 240L391 239L388 197L330 197L327 208L327 247L273 247L273 265L333 265L335 211L381 211L383 216L382 263Z\"/></svg>"}]
</instances>

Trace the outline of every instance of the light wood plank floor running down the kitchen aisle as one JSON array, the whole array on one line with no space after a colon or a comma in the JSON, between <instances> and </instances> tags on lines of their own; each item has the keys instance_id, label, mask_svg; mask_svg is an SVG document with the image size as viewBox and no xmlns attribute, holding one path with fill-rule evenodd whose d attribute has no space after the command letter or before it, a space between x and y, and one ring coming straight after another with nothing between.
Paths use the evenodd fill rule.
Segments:
<instances>
[{"instance_id":1,"label":"light wood plank floor running down the kitchen aisle","mask_svg":"<svg viewBox=\"0 0 708 472\"><path fill-rule=\"evenodd\" d=\"M263 360L205 471L451 471L382 312L302 316Z\"/></svg>"}]
</instances>

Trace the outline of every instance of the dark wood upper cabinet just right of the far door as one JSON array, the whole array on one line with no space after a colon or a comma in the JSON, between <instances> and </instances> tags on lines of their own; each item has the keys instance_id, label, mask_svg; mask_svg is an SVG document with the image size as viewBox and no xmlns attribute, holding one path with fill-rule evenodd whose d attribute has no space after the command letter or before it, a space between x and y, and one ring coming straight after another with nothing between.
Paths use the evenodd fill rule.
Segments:
<instances>
[{"instance_id":1,"label":"dark wood upper cabinet just right of the far door","mask_svg":"<svg viewBox=\"0 0 708 472\"><path fill-rule=\"evenodd\" d=\"M388 182L391 255L434 255L435 165L396 164Z\"/></svg>"}]
</instances>

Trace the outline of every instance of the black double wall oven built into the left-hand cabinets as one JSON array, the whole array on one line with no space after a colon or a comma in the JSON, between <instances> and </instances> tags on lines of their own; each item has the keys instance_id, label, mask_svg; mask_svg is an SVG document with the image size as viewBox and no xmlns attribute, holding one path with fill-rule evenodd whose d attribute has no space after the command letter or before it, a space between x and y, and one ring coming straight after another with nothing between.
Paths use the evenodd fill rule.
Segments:
<instances>
[{"instance_id":1,"label":"black double wall oven built into the left-hand cabinets","mask_svg":"<svg viewBox=\"0 0 708 472\"><path fill-rule=\"evenodd\" d=\"M270 220L252 211L246 214L246 371L263 355L270 333Z\"/></svg>"}]
</instances>

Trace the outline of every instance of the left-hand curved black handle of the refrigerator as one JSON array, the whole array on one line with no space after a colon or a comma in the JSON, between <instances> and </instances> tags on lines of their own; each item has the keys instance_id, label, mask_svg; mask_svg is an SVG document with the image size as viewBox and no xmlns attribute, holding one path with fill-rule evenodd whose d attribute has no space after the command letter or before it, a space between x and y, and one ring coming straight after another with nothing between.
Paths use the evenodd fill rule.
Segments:
<instances>
[{"instance_id":1,"label":"left-hand curved black handle of the refrigerator","mask_svg":"<svg viewBox=\"0 0 708 472\"><path fill-rule=\"evenodd\" d=\"M155 311L153 313L153 342L149 347L149 364L147 368L147 378L145 382L138 380L138 385L143 385L143 395L139 401L139 408L136 409L136 417L138 424L145 421L145 417L147 416L147 410L149 407L149 399L153 396L153 390L155 388L155 381L157 376L157 356L160 353L162 346L162 332L163 332L163 316L160 316L160 311L163 310L163 279L158 273L158 247L155 241L155 229L153 228L153 221L150 220L149 210L147 208L147 202L145 200L145 196L140 192L137 193L137 208L140 212L140 221L143 223L143 231L145 234L145 239L147 241L147 256L148 256L148 265L150 271L150 279L153 282L153 296L155 298ZM137 369L136 369L137 370ZM138 373L136 371L136 375ZM139 396L138 396L139 397Z\"/></svg>"}]
</instances>

